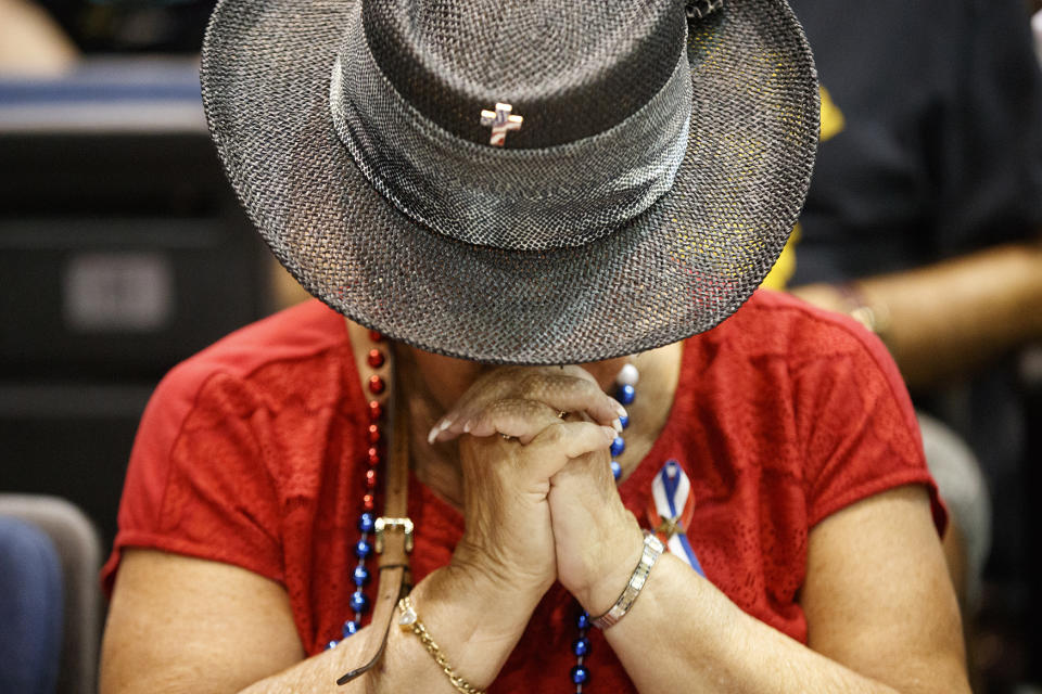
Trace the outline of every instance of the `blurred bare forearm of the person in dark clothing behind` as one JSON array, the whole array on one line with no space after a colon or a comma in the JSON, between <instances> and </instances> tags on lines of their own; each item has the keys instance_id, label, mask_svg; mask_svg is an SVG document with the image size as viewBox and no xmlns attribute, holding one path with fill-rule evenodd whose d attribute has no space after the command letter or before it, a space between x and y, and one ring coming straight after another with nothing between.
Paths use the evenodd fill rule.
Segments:
<instances>
[{"instance_id":1,"label":"blurred bare forearm of the person in dark clothing behind","mask_svg":"<svg viewBox=\"0 0 1042 694\"><path fill-rule=\"evenodd\" d=\"M882 336L913 388L1042 339L1042 245L1001 246L865 278L857 287L867 306L887 314ZM793 293L824 308L850 308L849 299L827 285Z\"/></svg>"}]
</instances>

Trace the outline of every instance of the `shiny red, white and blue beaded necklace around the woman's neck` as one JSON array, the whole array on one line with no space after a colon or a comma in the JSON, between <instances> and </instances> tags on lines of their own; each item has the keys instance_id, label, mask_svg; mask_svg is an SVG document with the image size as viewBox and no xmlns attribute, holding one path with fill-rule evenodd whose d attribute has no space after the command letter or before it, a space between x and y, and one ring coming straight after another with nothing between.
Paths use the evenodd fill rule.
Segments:
<instances>
[{"instance_id":1,"label":"shiny red, white and blue beaded necklace around the woman's neck","mask_svg":"<svg viewBox=\"0 0 1042 694\"><path fill-rule=\"evenodd\" d=\"M369 350L367 356L367 363L374 371L383 369L387 364L387 354L385 347L385 339L383 335L377 331L369 331L369 338L372 340L373 346ZM636 385L639 380L639 372L637 368L632 363L626 363L619 371L619 374L615 376L615 399L621 402L623 406L630 406L636 399ZM351 611L354 613L354 616L351 619L344 621L344 626L341 630L343 639L358 632L361 629L363 617L368 614L371 602L369 596L366 594L365 589L369 584L371 579L370 569L368 566L368 560L372 555L372 543L370 541L371 534L376 528L376 514L373 512L376 507L376 489L378 483L378 468L383 461L383 450L385 448L384 444L384 411L386 409L386 389L387 389L387 380L385 375L380 373L373 373L365 381L365 388L367 390L367 397L369 397L369 426L368 426L368 450L366 451L366 465L365 465L365 489L366 492L361 498L361 513L358 516L358 531L359 538L355 543L355 556L357 557L357 563L354 570L352 571L352 582L355 586L354 592L351 594L348 605ZM622 424L623 432L630 426L630 417L621 416L619 417ZM611 473L615 478L615 481L619 481L619 478L622 476L622 466L618 462L618 458L626 448L625 438L622 434L615 436L614 440L611 442ZM701 570L699 569L699 573ZM577 605L577 603L576 603ZM589 628L592 625L589 613L584 611L582 606L577 606L577 617L575 618L575 627L579 630L579 634L574 641L572 641L572 654L575 656L575 665L569 670L569 678L571 682L575 685L576 694L583 693L583 685L587 684L590 680L590 670L586 665L586 659L589 656ZM340 641L333 640L327 644L327 648L335 647Z\"/></svg>"}]
</instances>

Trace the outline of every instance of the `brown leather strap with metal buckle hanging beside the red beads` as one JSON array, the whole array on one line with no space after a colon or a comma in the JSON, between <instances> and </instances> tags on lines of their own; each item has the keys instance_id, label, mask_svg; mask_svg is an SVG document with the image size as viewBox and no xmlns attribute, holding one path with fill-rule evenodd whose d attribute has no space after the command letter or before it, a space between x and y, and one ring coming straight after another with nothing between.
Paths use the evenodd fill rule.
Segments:
<instances>
[{"instance_id":1,"label":"brown leather strap with metal buckle hanging beside the red beads","mask_svg":"<svg viewBox=\"0 0 1042 694\"><path fill-rule=\"evenodd\" d=\"M352 327L358 326L352 325ZM358 332L352 331L352 342L356 345L366 344L365 342L354 342L358 334ZM358 350L356 349L355 352L357 356ZM359 370L359 373L364 373L364 371ZM387 644L387 634L398 600L408 594L412 587L408 555L412 550L412 523L406 516L409 491L408 408L405 407L405 398L398 394L397 384L393 382L393 373L389 373L387 377L391 389L389 398L391 407L387 408L389 422L385 432L387 432L391 446L387 451L387 464L383 478L384 515L377 520L376 548L380 557L380 590L372 611L372 621L369 624L369 640L360 654L363 665L341 677L336 680L336 684L351 682L380 661L383 650ZM363 384L363 387L365 387L365 384Z\"/></svg>"}]
</instances>

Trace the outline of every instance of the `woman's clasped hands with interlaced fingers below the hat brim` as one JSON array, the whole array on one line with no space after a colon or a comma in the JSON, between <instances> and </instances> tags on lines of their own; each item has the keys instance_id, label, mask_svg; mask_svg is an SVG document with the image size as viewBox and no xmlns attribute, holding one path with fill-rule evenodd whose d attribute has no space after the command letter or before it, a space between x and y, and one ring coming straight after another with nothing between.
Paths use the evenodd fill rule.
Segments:
<instances>
[{"instance_id":1,"label":"woman's clasped hands with interlaced fingers below the hat brim","mask_svg":"<svg viewBox=\"0 0 1042 694\"><path fill-rule=\"evenodd\" d=\"M590 614L611 607L641 551L610 467L624 413L581 367L478 380L431 432L459 439L466 529L453 565L518 596L538 600L556 579Z\"/></svg>"}]
</instances>

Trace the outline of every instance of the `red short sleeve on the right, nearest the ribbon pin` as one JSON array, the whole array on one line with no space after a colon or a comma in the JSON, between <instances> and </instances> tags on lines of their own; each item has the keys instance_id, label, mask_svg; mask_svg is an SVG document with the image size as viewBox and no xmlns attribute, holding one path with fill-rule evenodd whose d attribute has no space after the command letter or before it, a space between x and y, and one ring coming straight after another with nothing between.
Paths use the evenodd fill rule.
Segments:
<instances>
[{"instance_id":1,"label":"red short sleeve on the right, nearest the ribbon pin","mask_svg":"<svg viewBox=\"0 0 1042 694\"><path fill-rule=\"evenodd\" d=\"M810 526L840 509L908 484L926 486L933 520L946 514L926 466L907 390L882 343L844 317L813 311L813 355L793 374Z\"/></svg>"}]
</instances>

